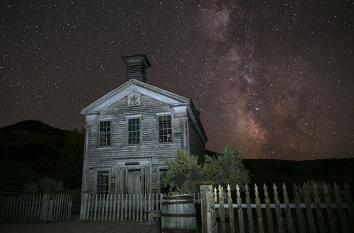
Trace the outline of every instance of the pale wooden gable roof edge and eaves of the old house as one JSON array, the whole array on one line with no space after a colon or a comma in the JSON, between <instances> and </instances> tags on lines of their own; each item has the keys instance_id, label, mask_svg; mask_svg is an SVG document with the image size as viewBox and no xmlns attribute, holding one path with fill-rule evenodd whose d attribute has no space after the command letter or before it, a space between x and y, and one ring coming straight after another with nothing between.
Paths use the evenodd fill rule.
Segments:
<instances>
[{"instance_id":1,"label":"pale wooden gable roof edge and eaves of the old house","mask_svg":"<svg viewBox=\"0 0 354 233\"><path fill-rule=\"evenodd\" d=\"M112 103L119 101L125 96L129 95L132 92L142 93L145 96L155 98L158 101L168 103L171 107L185 106L188 110L188 115L193 121L193 124L197 128L200 137L204 142L207 142L207 136L205 134L202 123L200 122L199 115L195 106L190 98L180 96L171 91L166 91L152 84L147 84L143 81L137 79L130 79L124 84L118 86L118 88L110 91L101 98L98 98L93 103L89 104L85 108L81 109L81 115L97 115L101 110L107 108Z\"/></svg>"}]
</instances>

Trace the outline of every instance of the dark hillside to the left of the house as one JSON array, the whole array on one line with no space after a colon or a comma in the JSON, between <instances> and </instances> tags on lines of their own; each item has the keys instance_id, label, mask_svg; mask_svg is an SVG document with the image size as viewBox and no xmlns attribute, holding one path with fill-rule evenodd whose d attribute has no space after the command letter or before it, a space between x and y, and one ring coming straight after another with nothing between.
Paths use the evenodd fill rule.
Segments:
<instances>
[{"instance_id":1,"label":"dark hillside to the left of the house","mask_svg":"<svg viewBox=\"0 0 354 233\"><path fill-rule=\"evenodd\" d=\"M77 130L60 130L38 120L0 128L0 161L28 163L40 178L53 177L67 188L81 187L83 152L84 135Z\"/></svg>"}]
</instances>

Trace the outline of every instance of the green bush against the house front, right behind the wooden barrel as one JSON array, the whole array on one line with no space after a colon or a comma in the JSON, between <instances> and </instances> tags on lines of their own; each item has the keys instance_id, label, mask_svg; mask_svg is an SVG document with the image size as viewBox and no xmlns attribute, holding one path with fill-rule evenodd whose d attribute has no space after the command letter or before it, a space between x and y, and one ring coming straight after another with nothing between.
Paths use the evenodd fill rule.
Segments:
<instances>
[{"instance_id":1,"label":"green bush against the house front, right behind the wooden barrel","mask_svg":"<svg viewBox=\"0 0 354 233\"><path fill-rule=\"evenodd\" d=\"M178 149L174 159L165 161L166 176L163 178L165 187L178 193L196 193L196 181L202 179L202 166L198 165L198 157L189 152Z\"/></svg>"}]
</instances>

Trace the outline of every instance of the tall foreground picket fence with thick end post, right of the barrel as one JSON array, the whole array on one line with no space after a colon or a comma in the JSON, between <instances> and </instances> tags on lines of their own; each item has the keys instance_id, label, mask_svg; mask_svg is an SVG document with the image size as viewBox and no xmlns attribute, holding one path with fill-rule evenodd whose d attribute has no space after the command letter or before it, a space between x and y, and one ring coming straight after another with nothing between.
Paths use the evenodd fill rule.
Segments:
<instances>
[{"instance_id":1,"label":"tall foreground picket fence with thick end post, right of the barrel","mask_svg":"<svg viewBox=\"0 0 354 233\"><path fill-rule=\"evenodd\" d=\"M264 185L264 203L261 203L258 187L255 185L255 203L251 203L250 189L246 186L246 203L242 203L241 189L237 186L236 204L233 204L229 186L224 200L226 195L222 187L219 186L217 192L212 185L202 185L202 232L353 232L354 205L348 185L345 184L341 196L334 183L333 200L326 184L321 188L324 193L319 192L316 184L314 187L304 184L303 195L300 197L297 186L294 185L294 203L290 203L285 185L282 186L282 198L278 194L278 188L273 185L273 201ZM313 195L309 195L309 189L313 189ZM280 203L280 199L284 202Z\"/></svg>"}]
</instances>

